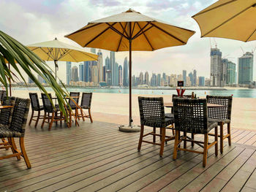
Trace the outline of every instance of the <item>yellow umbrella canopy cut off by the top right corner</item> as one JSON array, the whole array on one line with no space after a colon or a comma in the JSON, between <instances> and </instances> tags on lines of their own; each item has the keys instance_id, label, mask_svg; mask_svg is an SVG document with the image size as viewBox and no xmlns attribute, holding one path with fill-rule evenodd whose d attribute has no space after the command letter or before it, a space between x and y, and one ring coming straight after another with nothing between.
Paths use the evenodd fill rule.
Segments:
<instances>
[{"instance_id":1,"label":"yellow umbrella canopy cut off by the top right corner","mask_svg":"<svg viewBox=\"0 0 256 192\"><path fill-rule=\"evenodd\" d=\"M219 0L192 16L201 37L222 37L249 42L256 39L256 1Z\"/></svg>"}]
</instances>

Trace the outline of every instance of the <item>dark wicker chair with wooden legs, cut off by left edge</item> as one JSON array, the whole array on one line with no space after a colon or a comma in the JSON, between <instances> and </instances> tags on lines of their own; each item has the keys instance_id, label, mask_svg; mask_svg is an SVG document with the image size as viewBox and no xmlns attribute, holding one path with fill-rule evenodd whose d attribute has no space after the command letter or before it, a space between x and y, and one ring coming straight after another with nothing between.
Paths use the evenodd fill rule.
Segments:
<instances>
[{"instance_id":1,"label":"dark wicker chair with wooden legs, cut off by left edge","mask_svg":"<svg viewBox=\"0 0 256 192\"><path fill-rule=\"evenodd\" d=\"M26 166L28 169L31 168L31 164L29 162L29 158L26 155L26 150L24 146L24 135L26 129L26 121L29 114L29 104L30 99L20 99L17 98L15 101L15 107L13 108L13 112L11 115L11 121L9 125L0 126L0 137L7 137L9 140L8 146L11 147L12 153L11 155L1 156L1 159L16 157L20 160L20 156L22 156L26 162ZM19 151L15 145L14 137L20 138L20 150Z\"/></svg>"}]
</instances>

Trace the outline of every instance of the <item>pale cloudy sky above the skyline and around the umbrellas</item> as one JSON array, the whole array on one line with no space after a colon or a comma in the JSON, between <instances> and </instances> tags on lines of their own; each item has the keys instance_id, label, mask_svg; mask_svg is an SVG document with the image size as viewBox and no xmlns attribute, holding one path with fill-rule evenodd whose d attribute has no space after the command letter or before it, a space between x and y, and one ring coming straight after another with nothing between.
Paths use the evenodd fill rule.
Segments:
<instances>
[{"instance_id":1,"label":"pale cloudy sky above the skyline and around the umbrellas","mask_svg":"<svg viewBox=\"0 0 256 192\"><path fill-rule=\"evenodd\" d=\"M200 28L191 17L214 2L216 0L1 0L0 7L4 11L0 12L0 30L24 45L50 41L57 37L62 42L79 47L64 35L86 26L89 21L131 8L174 26L196 31L187 45L167 47L154 52L133 52L132 74L138 75L146 71L149 74L181 74L184 69L188 74L196 69L197 76L209 77L211 47L217 45L222 51L222 57L235 64L243 51L252 52L256 47L255 42L200 38ZM102 50L102 53L105 64L109 51ZM126 56L128 57L128 52L116 53L118 64L123 65ZM48 64L53 68L53 63ZM256 80L256 66L254 74ZM66 82L65 62L59 62L58 76Z\"/></svg>"}]
</instances>

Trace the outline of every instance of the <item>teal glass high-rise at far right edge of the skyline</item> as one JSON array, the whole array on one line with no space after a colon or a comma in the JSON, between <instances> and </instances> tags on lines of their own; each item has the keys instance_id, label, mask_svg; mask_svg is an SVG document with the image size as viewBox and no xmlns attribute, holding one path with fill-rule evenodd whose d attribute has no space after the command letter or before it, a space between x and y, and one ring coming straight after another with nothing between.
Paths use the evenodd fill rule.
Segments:
<instances>
[{"instance_id":1,"label":"teal glass high-rise at far right edge of the skyline","mask_svg":"<svg viewBox=\"0 0 256 192\"><path fill-rule=\"evenodd\" d=\"M253 54L246 52L238 58L238 84L249 85L253 80Z\"/></svg>"}]
</instances>

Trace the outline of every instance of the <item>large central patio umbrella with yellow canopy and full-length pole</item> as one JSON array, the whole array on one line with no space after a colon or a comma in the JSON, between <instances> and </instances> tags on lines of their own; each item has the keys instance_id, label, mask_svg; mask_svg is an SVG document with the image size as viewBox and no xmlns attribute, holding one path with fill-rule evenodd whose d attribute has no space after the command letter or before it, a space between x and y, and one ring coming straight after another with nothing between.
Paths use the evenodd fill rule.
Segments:
<instances>
[{"instance_id":1,"label":"large central patio umbrella with yellow canopy and full-length pole","mask_svg":"<svg viewBox=\"0 0 256 192\"><path fill-rule=\"evenodd\" d=\"M129 51L129 126L132 127L132 50L153 51L164 47L186 45L195 34L185 28L172 26L132 9L108 18L94 20L65 37L82 47L112 51Z\"/></svg>"}]
</instances>

